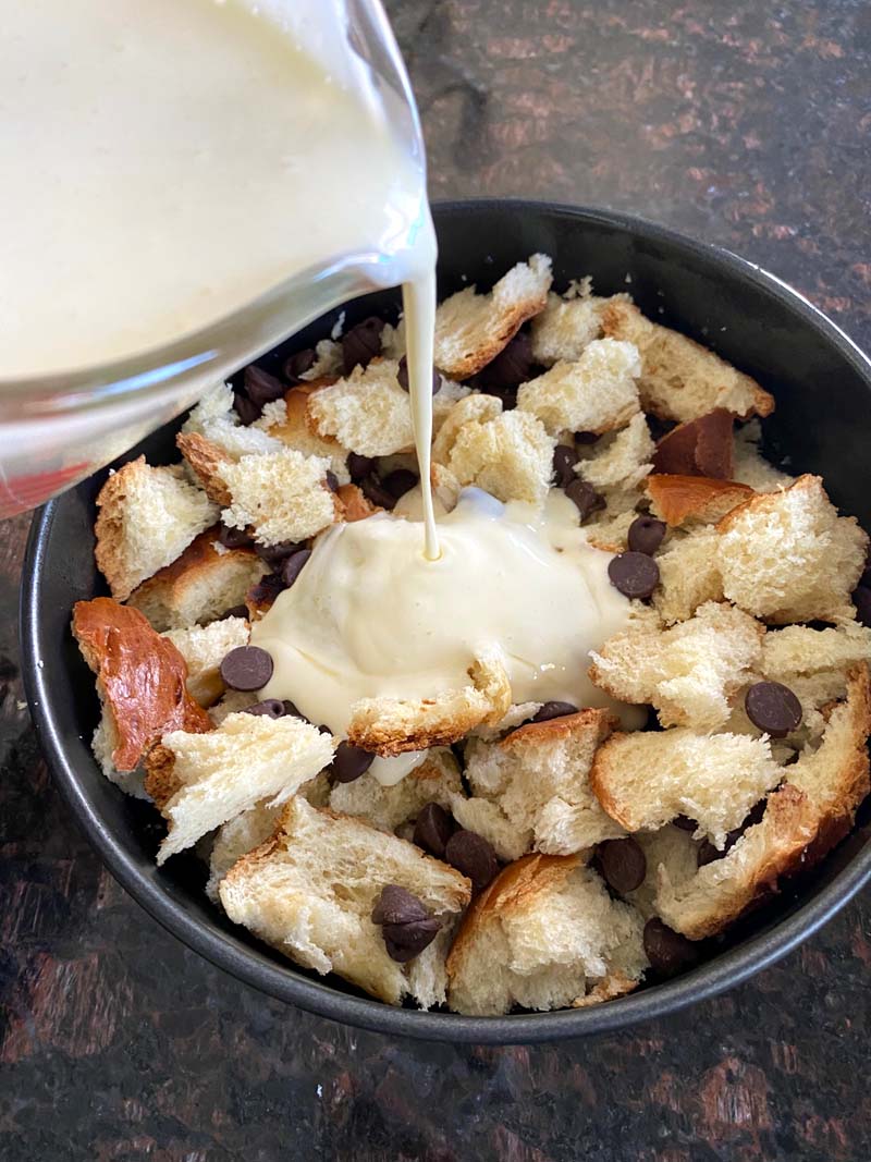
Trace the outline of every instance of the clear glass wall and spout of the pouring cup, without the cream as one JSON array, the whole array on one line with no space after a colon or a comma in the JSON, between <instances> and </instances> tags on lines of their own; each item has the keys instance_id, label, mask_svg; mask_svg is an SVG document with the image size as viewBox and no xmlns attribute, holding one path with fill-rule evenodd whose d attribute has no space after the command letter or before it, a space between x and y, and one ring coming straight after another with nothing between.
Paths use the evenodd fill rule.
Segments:
<instances>
[{"instance_id":1,"label":"clear glass wall and spout of the pouring cup, without the cream","mask_svg":"<svg viewBox=\"0 0 871 1162\"><path fill-rule=\"evenodd\" d=\"M411 214L394 234L395 251L324 256L323 266L142 356L9 380L2 376L0 350L0 517L34 508L103 467L208 387L326 310L403 280L403 250L429 222L425 159L408 74L380 0L261 0L260 7L289 23L307 53L341 76L360 100L381 103L403 152L419 168L418 216ZM50 281L45 299L48 331Z\"/></svg>"}]
</instances>

